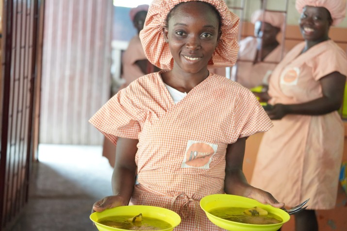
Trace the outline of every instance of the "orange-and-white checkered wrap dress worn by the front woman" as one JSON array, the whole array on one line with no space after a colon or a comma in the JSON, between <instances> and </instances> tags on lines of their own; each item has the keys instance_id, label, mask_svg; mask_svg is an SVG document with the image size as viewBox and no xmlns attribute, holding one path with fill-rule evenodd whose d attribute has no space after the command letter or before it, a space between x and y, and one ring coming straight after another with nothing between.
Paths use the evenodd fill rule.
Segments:
<instances>
[{"instance_id":1,"label":"orange-and-white checkered wrap dress worn by the front woman","mask_svg":"<svg viewBox=\"0 0 347 231\"><path fill-rule=\"evenodd\" d=\"M215 74L175 104L162 72L119 91L90 122L115 145L117 137L139 140L139 184L131 204L180 214L175 231L222 230L208 220L199 200L224 193L228 144L267 131L272 123L247 88Z\"/></svg>"}]
</instances>

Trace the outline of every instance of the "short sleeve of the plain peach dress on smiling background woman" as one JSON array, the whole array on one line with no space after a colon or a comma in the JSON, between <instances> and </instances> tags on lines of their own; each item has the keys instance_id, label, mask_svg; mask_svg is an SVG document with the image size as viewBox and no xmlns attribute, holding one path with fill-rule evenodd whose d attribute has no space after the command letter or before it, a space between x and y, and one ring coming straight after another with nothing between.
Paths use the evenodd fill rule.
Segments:
<instances>
[{"instance_id":1,"label":"short sleeve of the plain peach dress on smiling background woman","mask_svg":"<svg viewBox=\"0 0 347 231\"><path fill-rule=\"evenodd\" d=\"M347 55L343 49L337 47L326 49L310 62L316 81L335 71L347 75Z\"/></svg>"}]
</instances>

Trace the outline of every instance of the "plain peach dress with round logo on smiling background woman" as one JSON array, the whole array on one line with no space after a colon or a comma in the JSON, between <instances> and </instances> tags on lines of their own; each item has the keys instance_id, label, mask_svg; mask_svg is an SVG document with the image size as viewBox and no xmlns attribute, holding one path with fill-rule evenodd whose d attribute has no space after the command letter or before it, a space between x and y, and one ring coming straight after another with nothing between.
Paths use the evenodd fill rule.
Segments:
<instances>
[{"instance_id":1,"label":"plain peach dress with round logo on smiling background woman","mask_svg":"<svg viewBox=\"0 0 347 231\"><path fill-rule=\"evenodd\" d=\"M322 97L319 80L347 75L346 53L332 40L301 53L293 48L270 77L271 104L304 103ZM270 192L288 207L310 198L308 209L335 207L343 154L344 126L337 111L286 115L274 120L259 148L251 185Z\"/></svg>"}]
</instances>

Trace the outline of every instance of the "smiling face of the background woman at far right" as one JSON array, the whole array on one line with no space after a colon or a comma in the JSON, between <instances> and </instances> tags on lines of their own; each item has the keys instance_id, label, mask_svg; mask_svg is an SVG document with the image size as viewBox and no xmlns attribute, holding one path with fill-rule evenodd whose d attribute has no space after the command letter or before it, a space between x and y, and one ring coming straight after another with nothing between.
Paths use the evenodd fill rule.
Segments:
<instances>
[{"instance_id":1,"label":"smiling face of the background woman at far right","mask_svg":"<svg viewBox=\"0 0 347 231\"><path fill-rule=\"evenodd\" d=\"M331 23L329 11L314 6L305 6L299 20L301 34L308 41L328 38Z\"/></svg>"}]
</instances>

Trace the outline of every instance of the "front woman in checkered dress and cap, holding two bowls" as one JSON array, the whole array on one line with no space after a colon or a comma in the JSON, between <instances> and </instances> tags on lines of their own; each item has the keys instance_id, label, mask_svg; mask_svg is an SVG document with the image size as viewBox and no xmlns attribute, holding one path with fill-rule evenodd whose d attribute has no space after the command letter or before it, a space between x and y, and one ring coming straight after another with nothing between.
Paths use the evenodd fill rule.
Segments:
<instances>
[{"instance_id":1,"label":"front woman in checkered dress and cap, holding two bowls","mask_svg":"<svg viewBox=\"0 0 347 231\"><path fill-rule=\"evenodd\" d=\"M163 70L133 81L90 119L116 145L114 196L95 211L154 205L181 215L176 231L219 231L199 206L207 195L283 206L242 172L247 137L269 130L270 119L247 88L208 71L235 63L238 23L224 0L151 3L140 38Z\"/></svg>"}]
</instances>

